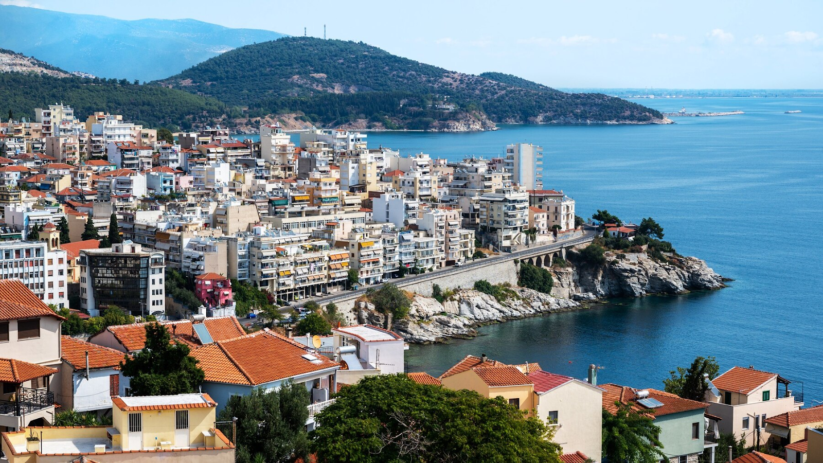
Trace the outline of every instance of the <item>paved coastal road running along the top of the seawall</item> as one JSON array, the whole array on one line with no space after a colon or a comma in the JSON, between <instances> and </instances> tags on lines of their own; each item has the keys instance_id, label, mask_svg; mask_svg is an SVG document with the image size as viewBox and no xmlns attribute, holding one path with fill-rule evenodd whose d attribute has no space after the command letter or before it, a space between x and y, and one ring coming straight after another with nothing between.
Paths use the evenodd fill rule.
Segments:
<instances>
[{"instance_id":1,"label":"paved coastal road running along the top of the seawall","mask_svg":"<svg viewBox=\"0 0 823 463\"><path fill-rule=\"evenodd\" d=\"M594 230L585 230L584 231L584 236L579 236L578 238L574 238L574 239L571 239L571 240L556 241L554 243L551 243L551 244L548 244L548 245L545 245L545 246L531 246L531 247L528 247L524 250L518 250L517 252L504 252L504 253L500 253L499 255L494 255L492 257L487 257L486 259L477 259L477 260L474 260L472 262L467 262L466 264L463 264L461 267L449 266L449 267L445 267L443 269L437 269L434 272L429 272L429 273L425 273L425 274L406 275L402 279L401 278L394 278L392 280L392 282L393 283L403 283L403 285L406 285L406 284L410 284L410 283L415 283L416 281L422 280L422 279L425 279L425 278L431 278L432 274L440 274L440 273L443 273L443 272L449 272L449 271L453 271L453 270L456 270L456 269L464 270L464 269L472 269L473 267L478 267L479 268L481 266L488 265L488 264L497 262L499 260L514 260L514 259L519 259L520 257L523 257L523 256L545 255L548 252L551 252L551 251L554 251L554 250L559 250L561 247L577 246L577 245L581 245L581 244L584 244L586 242L592 241L595 236L597 236L597 232L595 232ZM335 292L330 296L315 297L314 299L307 299L305 302L314 300L314 302L317 302L321 306L325 306L329 302L339 302L339 301L344 301L346 299L351 299L353 297L360 297L363 294L365 294L365 292L368 289L370 289L370 288L371 289L379 289L382 286L383 286L382 283L381 284L373 284L373 285L370 285L370 286L367 286L367 287L361 287L360 289L358 289L356 291ZM281 311L284 311L284 312L291 311L292 308L294 308L296 306L302 306L305 302L300 302L300 303L295 304L291 307L284 307L283 309L281 309Z\"/></svg>"}]
</instances>

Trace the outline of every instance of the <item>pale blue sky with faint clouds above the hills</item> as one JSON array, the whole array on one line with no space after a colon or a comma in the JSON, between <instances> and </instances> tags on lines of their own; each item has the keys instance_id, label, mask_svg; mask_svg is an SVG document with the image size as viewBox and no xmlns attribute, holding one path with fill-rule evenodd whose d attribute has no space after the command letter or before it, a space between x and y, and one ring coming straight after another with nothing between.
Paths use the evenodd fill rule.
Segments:
<instances>
[{"instance_id":1,"label":"pale blue sky with faint clouds above the hills","mask_svg":"<svg viewBox=\"0 0 823 463\"><path fill-rule=\"evenodd\" d=\"M823 2L0 0L119 19L363 41L459 72L551 87L821 88Z\"/></svg>"}]
</instances>

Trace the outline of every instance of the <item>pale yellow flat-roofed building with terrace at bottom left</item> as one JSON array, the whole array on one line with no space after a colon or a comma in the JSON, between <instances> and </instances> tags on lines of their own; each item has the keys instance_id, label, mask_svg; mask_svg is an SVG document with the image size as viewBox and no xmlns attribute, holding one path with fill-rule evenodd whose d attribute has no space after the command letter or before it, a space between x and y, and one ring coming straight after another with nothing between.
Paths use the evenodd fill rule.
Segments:
<instances>
[{"instance_id":1,"label":"pale yellow flat-roofed building with terrace at bottom left","mask_svg":"<svg viewBox=\"0 0 823 463\"><path fill-rule=\"evenodd\" d=\"M207 394L117 396L112 404L110 427L24 428L2 433L2 451L10 463L235 461L234 444L214 428L217 404Z\"/></svg>"}]
</instances>

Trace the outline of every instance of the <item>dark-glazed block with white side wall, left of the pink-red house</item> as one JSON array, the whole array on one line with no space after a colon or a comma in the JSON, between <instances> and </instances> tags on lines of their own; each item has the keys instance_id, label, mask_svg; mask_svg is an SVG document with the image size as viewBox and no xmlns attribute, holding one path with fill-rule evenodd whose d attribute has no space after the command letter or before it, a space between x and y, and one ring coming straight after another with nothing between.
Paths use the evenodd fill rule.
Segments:
<instances>
[{"instance_id":1,"label":"dark-glazed block with white side wall, left of the pink-red house","mask_svg":"<svg viewBox=\"0 0 823 463\"><path fill-rule=\"evenodd\" d=\"M80 251L80 306L99 316L108 306L134 315L165 311L163 253L132 241Z\"/></svg>"}]
</instances>

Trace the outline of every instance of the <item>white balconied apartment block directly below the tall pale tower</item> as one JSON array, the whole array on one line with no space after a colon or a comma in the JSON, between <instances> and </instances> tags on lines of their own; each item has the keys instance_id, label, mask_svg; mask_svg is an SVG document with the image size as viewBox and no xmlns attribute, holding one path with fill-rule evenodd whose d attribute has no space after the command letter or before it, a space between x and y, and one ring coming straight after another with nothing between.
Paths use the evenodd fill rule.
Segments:
<instances>
[{"instance_id":1,"label":"white balconied apartment block directly below the tall pale tower","mask_svg":"<svg viewBox=\"0 0 823 463\"><path fill-rule=\"evenodd\" d=\"M480 198L479 226L497 248L511 251L522 246L523 228L528 225L528 193L500 189Z\"/></svg>"}]
</instances>

